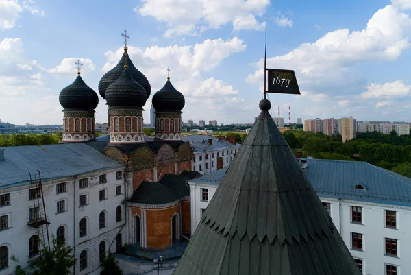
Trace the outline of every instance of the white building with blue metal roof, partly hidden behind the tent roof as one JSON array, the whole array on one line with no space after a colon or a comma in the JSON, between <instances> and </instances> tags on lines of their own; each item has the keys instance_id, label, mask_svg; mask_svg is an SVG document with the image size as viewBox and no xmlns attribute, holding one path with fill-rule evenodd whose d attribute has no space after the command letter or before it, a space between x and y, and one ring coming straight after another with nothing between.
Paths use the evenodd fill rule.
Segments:
<instances>
[{"instance_id":1,"label":"white building with blue metal roof, partly hidden behind the tent roof","mask_svg":"<svg viewBox=\"0 0 411 275\"><path fill-rule=\"evenodd\" d=\"M410 178L364 162L301 159L299 163L308 167L304 173L362 274L411 274ZM188 182L192 232L226 171Z\"/></svg>"}]
</instances>

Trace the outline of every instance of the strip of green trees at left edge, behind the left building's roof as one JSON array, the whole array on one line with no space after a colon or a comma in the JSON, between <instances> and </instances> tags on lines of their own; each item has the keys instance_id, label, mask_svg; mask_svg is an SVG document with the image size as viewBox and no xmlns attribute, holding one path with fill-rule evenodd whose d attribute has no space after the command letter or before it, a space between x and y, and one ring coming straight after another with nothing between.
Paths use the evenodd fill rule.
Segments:
<instances>
[{"instance_id":1,"label":"strip of green trees at left edge, behind the left building's roof","mask_svg":"<svg viewBox=\"0 0 411 275\"><path fill-rule=\"evenodd\" d=\"M1 134L0 147L57 144L62 140L56 134Z\"/></svg>"}]
</instances>

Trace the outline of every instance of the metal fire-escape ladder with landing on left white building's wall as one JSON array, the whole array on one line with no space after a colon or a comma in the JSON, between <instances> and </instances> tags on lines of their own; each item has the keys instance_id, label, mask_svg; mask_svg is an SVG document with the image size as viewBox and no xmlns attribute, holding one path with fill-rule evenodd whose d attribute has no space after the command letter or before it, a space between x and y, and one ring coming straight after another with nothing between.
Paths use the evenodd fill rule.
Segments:
<instances>
[{"instance_id":1,"label":"metal fire-escape ladder with landing on left white building's wall","mask_svg":"<svg viewBox=\"0 0 411 275\"><path fill-rule=\"evenodd\" d=\"M33 202L33 208L30 208L29 218L27 221L27 226L32 226L36 228L37 235L39 238L39 243L42 244L44 248L49 248L50 250L50 239L49 239L49 217L46 215L45 198L42 190L41 174L40 171L32 173L29 171L30 176L30 190L29 190L29 200ZM41 250L40 250L41 256Z\"/></svg>"}]
</instances>

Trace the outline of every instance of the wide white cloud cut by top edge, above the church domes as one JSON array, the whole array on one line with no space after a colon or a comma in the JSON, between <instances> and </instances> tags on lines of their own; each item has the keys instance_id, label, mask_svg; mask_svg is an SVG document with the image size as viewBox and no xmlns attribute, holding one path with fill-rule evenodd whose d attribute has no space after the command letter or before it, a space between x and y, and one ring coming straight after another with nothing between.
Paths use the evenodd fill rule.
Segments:
<instances>
[{"instance_id":1,"label":"wide white cloud cut by top edge, above the church domes","mask_svg":"<svg viewBox=\"0 0 411 275\"><path fill-rule=\"evenodd\" d=\"M229 22L236 31L262 29L265 23L259 23L256 16L261 17L269 4L270 0L142 0L134 12L166 23L164 36L171 37L196 35L197 30L218 29Z\"/></svg>"}]
</instances>

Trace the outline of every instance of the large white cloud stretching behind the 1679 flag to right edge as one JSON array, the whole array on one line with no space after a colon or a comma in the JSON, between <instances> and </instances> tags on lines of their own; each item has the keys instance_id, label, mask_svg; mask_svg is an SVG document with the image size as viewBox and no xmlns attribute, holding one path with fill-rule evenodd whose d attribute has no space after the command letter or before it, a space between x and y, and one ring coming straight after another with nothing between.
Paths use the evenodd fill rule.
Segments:
<instances>
[{"instance_id":1,"label":"large white cloud stretching behind the 1679 flag to right edge","mask_svg":"<svg viewBox=\"0 0 411 275\"><path fill-rule=\"evenodd\" d=\"M338 29L314 43L303 43L282 56L267 60L268 67L294 69L299 86L320 93L361 93L366 79L352 69L355 64L396 60L409 46L411 19L408 14L387 5L375 12L366 28L350 32ZM264 60L247 77L249 83L262 83Z\"/></svg>"}]
</instances>

